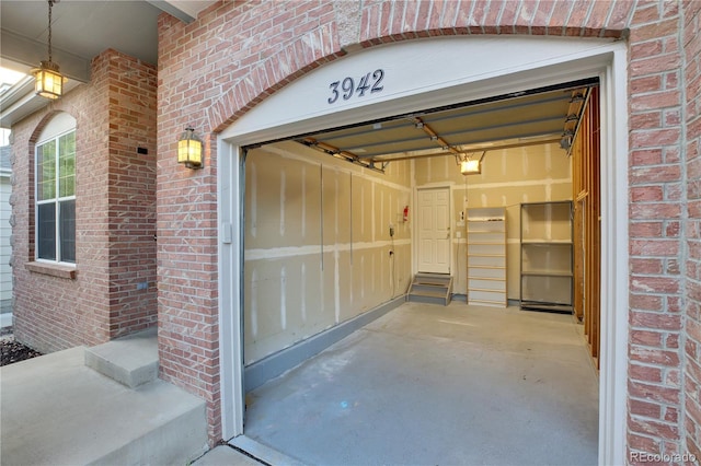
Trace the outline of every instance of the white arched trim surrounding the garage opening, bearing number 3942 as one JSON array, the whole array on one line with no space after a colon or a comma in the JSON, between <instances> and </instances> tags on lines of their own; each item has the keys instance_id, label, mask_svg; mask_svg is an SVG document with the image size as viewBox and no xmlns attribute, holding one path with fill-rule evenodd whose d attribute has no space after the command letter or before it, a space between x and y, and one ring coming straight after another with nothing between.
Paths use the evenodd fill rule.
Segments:
<instances>
[{"instance_id":1,"label":"white arched trim surrounding the garage opening, bearing number 3942","mask_svg":"<svg viewBox=\"0 0 701 466\"><path fill-rule=\"evenodd\" d=\"M490 63L497 63L487 74L478 68L464 69L466 75L458 80L444 80L434 86L404 89L395 95L377 101L365 101L365 105L330 108L327 113L310 112L303 94L299 105L285 108L286 115L275 115L275 102L284 102L289 96L290 84L273 95L235 124L227 128L219 138L220 170L219 180L229 178L231 183L222 185L219 206L222 225L231 219L240 220L242 211L239 198L239 167L235 163L241 156L238 147L264 142L277 138L314 131L331 126L361 123L415 110L430 108L455 102L466 102L480 97L528 90L585 77L600 77L602 108L602 155L601 155L601 372L600 372L600 416L599 416L599 463L602 465L624 464L625 457L625 405L627 405L627 346L628 346L628 106L627 106L627 48L624 43L602 43L589 39L555 39L518 37L517 42L507 37L491 37L485 42L475 37L460 38L462 56L471 57L480 51L479 46L489 45ZM428 42L432 39L418 39ZM434 42L435 44L436 42ZM402 45L403 44L403 45ZM390 47L407 46L410 42L372 47L358 57L371 57L371 53L387 50ZM440 43L440 44L447 44ZM455 43L453 43L455 44ZM520 48L514 53L514 44ZM503 47L506 45L506 47ZM567 45L568 47L564 47ZM492 51L495 51L492 54ZM498 53L497 53L498 51ZM552 51L552 53L551 53ZM484 53L482 49L481 53ZM392 54L382 51L384 60L392 60ZM530 55L529 55L530 54ZM294 89L314 81L314 73L345 75L346 65L357 63L355 55L321 67L296 81ZM540 57L535 59L533 57ZM545 58L543 58L545 57ZM499 61L501 60L501 61ZM453 71L452 60L450 72ZM517 62L517 65L514 65ZM482 68L482 65L480 63ZM388 63L388 67L392 63ZM416 68L425 67L423 60L414 60ZM461 68L462 69L462 68ZM448 74L445 67L441 72ZM314 75L314 79L311 77ZM404 74L414 75L414 74ZM323 81L323 79L322 79ZM411 81L411 80L410 80ZM443 86L443 88L441 88ZM291 92L291 91L290 91ZM280 101L281 98L281 101ZM279 107L278 107L279 108ZM298 114L287 112L292 108ZM329 117L333 115L332 117ZM281 119L280 119L281 118ZM229 159L229 161L227 161ZM231 161L233 159L233 163ZM235 201L235 202L234 202ZM240 251L240 231L233 232L231 245L219 241L220 267L220 350L222 354L222 423L225 438L241 434L243 401L240 371L233 361L241 358L241 291L238 281L242 260ZM225 261L227 264L225 264ZM235 286L225 294L222 283ZM234 313L235 315L222 315ZM239 325L239 326L237 326ZM226 358L225 358L226 356ZM232 373L228 373L231 371ZM237 399L231 399L231 397ZM226 403L225 403L226 401ZM232 409L233 408L233 409Z\"/></svg>"}]
</instances>

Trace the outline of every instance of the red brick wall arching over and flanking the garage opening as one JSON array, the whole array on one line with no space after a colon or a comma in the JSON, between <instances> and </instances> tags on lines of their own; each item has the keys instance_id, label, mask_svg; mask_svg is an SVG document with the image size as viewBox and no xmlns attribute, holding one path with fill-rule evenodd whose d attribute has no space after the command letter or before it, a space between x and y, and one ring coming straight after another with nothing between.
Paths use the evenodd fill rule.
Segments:
<instances>
[{"instance_id":1,"label":"red brick wall arching over and flanking the garage opening","mask_svg":"<svg viewBox=\"0 0 701 466\"><path fill-rule=\"evenodd\" d=\"M682 89L687 78L681 70L681 4L237 1L217 3L188 25L162 15L158 141L161 364L164 378L207 399L211 439L220 434L215 133L288 82L346 51L434 35L532 34L629 42L629 452L681 452L687 448L685 436L692 445L698 439L698 430L693 431L698 429L693 413L698 412L693 411L698 386L687 384L685 405L683 341L688 335L687 352L696 351L692 356L698 360L699 327L694 325L699 312L690 306L685 329L685 269L696 270L696 263L686 265L680 254L686 251L685 229L696 229L698 237L698 224L683 222ZM698 2L683 4L687 16L696 15L688 20L687 31L694 31L694 25L698 31L693 12ZM691 44L687 50L698 50L694 33L686 37ZM687 74L692 77L698 73L698 58L688 62ZM698 80L686 85L690 98L688 91L698 90ZM698 128L697 121L689 116L686 124ZM208 140L206 167L198 172L182 170L174 159L177 133L188 123ZM698 129L696 133L698 153ZM699 279L698 273L692 276ZM693 292L699 294L690 287L688 293ZM686 368L687 378L693 380L698 365ZM690 396L694 391L696 398Z\"/></svg>"}]
</instances>

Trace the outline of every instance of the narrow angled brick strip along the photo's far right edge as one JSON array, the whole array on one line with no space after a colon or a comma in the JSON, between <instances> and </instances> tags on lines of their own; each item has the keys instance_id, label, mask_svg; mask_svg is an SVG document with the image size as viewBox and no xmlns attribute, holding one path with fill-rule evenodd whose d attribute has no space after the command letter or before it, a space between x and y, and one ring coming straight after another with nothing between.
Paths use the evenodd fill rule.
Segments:
<instances>
[{"instance_id":1,"label":"narrow angled brick strip along the photo's far right edge","mask_svg":"<svg viewBox=\"0 0 701 466\"><path fill-rule=\"evenodd\" d=\"M683 19L688 254L682 421L686 448L701 458L701 2L687 2Z\"/></svg>"}]
</instances>

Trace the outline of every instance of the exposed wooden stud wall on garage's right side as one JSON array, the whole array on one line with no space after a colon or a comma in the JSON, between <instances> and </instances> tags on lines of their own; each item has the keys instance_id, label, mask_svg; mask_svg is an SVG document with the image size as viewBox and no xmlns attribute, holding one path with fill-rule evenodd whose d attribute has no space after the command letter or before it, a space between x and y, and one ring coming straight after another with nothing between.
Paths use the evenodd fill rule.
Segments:
<instances>
[{"instance_id":1,"label":"exposed wooden stud wall on garage's right side","mask_svg":"<svg viewBox=\"0 0 701 466\"><path fill-rule=\"evenodd\" d=\"M600 329L600 116L599 89L594 88L572 145L574 202L575 318L584 324L591 358L599 368Z\"/></svg>"}]
</instances>

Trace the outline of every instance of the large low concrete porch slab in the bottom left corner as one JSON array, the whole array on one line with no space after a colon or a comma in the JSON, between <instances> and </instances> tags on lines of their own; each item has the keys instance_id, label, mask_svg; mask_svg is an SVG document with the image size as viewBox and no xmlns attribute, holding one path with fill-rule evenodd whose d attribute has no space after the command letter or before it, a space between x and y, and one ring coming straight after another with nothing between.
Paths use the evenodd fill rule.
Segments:
<instances>
[{"instance_id":1,"label":"large low concrete porch slab in the bottom left corner","mask_svg":"<svg viewBox=\"0 0 701 466\"><path fill-rule=\"evenodd\" d=\"M0 368L0 464L186 465L207 451L203 399L162 380L128 388L83 353Z\"/></svg>"}]
</instances>

